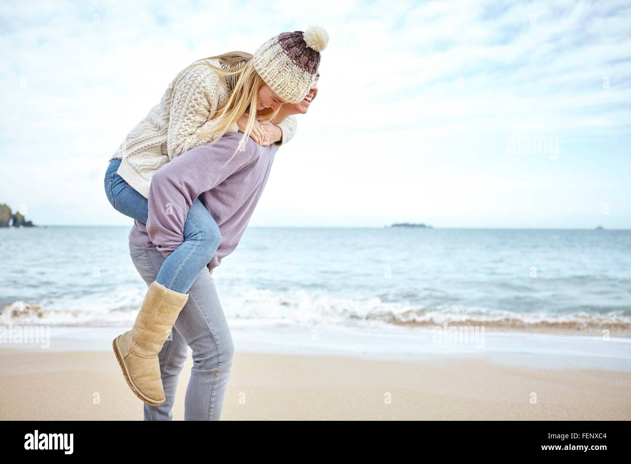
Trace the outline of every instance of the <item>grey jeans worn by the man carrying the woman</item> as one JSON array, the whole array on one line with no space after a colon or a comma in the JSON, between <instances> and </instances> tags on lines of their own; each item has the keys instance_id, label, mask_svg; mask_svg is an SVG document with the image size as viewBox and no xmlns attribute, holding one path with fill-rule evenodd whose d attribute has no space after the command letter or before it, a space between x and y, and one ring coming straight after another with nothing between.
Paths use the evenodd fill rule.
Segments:
<instances>
[{"instance_id":1,"label":"grey jeans worn by the man carrying the woman","mask_svg":"<svg viewBox=\"0 0 631 464\"><path fill-rule=\"evenodd\" d=\"M129 254L144 282L150 285L166 258L155 247L139 247L131 242ZM160 406L144 403L144 420L173 419L177 380L188 347L192 349L193 367L184 400L184 420L219 420L221 416L234 345L208 268L199 273L188 293L189 300L158 355L166 400Z\"/></svg>"}]
</instances>

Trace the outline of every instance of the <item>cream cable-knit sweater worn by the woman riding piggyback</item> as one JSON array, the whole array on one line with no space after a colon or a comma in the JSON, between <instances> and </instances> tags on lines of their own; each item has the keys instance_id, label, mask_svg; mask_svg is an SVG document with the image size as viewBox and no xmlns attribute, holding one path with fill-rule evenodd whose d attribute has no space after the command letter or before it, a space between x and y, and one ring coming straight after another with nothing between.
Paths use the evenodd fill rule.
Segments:
<instances>
[{"instance_id":1,"label":"cream cable-knit sweater worn by the woman riding piggyback","mask_svg":"<svg viewBox=\"0 0 631 464\"><path fill-rule=\"evenodd\" d=\"M209 62L221 66L218 59ZM220 76L208 66L193 66L180 71L167 87L160 103L127 134L114 155L110 156L110 160L122 158L117 173L148 198L151 177L160 167L187 150L213 140L212 136L200 133L211 128L216 109L228 100L232 86L232 80ZM283 137L276 145L292 140L296 118L289 116L278 126L283 131ZM234 122L226 133L237 131L239 126Z\"/></svg>"}]
</instances>

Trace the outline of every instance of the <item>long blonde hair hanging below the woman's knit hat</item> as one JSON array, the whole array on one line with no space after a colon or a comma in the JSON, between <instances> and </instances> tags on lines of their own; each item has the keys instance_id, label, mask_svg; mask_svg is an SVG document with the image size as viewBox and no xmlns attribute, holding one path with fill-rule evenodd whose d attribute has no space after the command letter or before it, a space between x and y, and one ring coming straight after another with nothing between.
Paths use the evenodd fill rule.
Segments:
<instances>
[{"instance_id":1,"label":"long blonde hair hanging below the woman's knit hat","mask_svg":"<svg viewBox=\"0 0 631 464\"><path fill-rule=\"evenodd\" d=\"M232 160L237 152L243 151L243 146L250 136L250 131L252 126L254 126L256 117L261 117L263 121L272 121L280 110L280 108L277 110L266 108L257 113L256 107L258 105L259 90L266 84L259 73L254 69L254 61L252 58L251 53L239 51L228 52L200 59L185 68L188 69L192 66L202 64L212 68L220 76L234 76L235 85L232 92L230 92L230 98L228 98L223 105L218 107L213 115L213 128L210 131L199 133L200 135L213 136L213 140L209 142L210 145L213 145L226 133L228 127L233 122L237 122L237 119L239 119L242 114L249 112L245 133L239 141L237 150L233 153L232 157L230 157L230 160ZM227 65L226 69L218 68L206 61L210 59L219 59L220 62ZM236 69L237 67L238 69ZM251 110L252 108L254 108L254 111ZM228 160L228 163L230 160Z\"/></svg>"}]
</instances>

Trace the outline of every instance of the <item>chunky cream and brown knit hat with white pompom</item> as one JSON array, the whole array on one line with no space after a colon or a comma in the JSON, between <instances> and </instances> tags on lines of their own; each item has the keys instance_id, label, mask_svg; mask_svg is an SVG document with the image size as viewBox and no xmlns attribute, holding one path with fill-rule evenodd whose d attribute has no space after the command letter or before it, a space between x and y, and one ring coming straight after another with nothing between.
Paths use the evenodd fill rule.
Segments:
<instances>
[{"instance_id":1,"label":"chunky cream and brown knit hat with white pompom","mask_svg":"<svg viewBox=\"0 0 631 464\"><path fill-rule=\"evenodd\" d=\"M329 34L320 26L282 32L254 52L254 69L280 98L301 102L315 80L320 52L328 42Z\"/></svg>"}]
</instances>

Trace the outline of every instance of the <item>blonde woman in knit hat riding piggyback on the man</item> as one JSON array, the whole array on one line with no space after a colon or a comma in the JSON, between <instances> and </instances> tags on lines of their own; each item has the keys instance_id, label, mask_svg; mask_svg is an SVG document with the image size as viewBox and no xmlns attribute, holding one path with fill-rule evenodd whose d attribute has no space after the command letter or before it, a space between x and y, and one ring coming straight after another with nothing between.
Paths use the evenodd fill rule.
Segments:
<instances>
[{"instance_id":1,"label":"blonde woman in knit hat riding piggyback on the man","mask_svg":"<svg viewBox=\"0 0 631 464\"><path fill-rule=\"evenodd\" d=\"M231 52L194 62L175 76L160 103L110 159L105 174L110 203L134 218L139 227L146 226L151 241L155 238L157 250L166 257L132 330L112 343L127 384L149 405L165 402L158 353L187 303L188 290L215 256L221 241L208 209L199 198L188 198L186 218L180 224L183 232L161 246L160 237L170 231L160 222L152 222L149 215L151 180L163 165L204 145L208 155L216 155L222 162L213 172L200 170L194 175L214 188L249 163L248 153L252 151L244 151L249 138L262 146L289 141L295 118L287 117L278 126L272 122L281 105L297 104L307 97L328 39L324 28L310 27L305 32L280 33L254 55ZM237 132L244 135L230 157L224 156L225 146L221 144L213 150L225 134ZM170 208L177 206L166 200L160 208L171 215Z\"/></svg>"}]
</instances>

